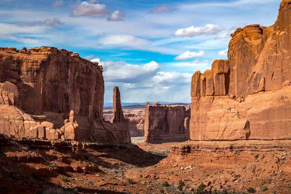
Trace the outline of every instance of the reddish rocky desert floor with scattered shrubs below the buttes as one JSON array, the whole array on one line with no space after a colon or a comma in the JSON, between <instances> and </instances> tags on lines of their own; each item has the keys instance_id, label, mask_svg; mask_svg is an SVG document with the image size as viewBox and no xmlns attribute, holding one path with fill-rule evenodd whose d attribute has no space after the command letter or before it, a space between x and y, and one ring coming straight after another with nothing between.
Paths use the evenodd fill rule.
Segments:
<instances>
[{"instance_id":1,"label":"reddish rocky desert floor with scattered shrubs below the buttes","mask_svg":"<svg viewBox=\"0 0 291 194\"><path fill-rule=\"evenodd\" d=\"M0 135L0 193L291 193L289 140L142 139L113 145Z\"/></svg>"}]
</instances>

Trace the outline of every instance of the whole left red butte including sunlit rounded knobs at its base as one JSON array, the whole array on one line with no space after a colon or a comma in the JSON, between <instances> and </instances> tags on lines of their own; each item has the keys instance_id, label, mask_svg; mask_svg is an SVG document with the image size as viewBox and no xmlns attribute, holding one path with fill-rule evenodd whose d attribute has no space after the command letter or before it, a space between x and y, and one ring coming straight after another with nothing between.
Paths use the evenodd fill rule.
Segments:
<instances>
[{"instance_id":1,"label":"whole left red butte including sunlit rounded knobs at its base","mask_svg":"<svg viewBox=\"0 0 291 194\"><path fill-rule=\"evenodd\" d=\"M102 72L98 63L65 49L0 48L0 132L129 143L126 125L119 129L124 118L103 121ZM122 113L121 106L117 110Z\"/></svg>"}]
</instances>

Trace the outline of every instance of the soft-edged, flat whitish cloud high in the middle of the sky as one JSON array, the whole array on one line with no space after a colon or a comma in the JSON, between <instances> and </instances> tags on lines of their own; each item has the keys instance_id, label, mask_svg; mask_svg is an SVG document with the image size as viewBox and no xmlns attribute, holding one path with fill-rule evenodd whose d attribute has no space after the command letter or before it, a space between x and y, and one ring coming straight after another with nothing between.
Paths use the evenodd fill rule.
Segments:
<instances>
[{"instance_id":1,"label":"soft-edged, flat whitish cloud high in the middle of the sky","mask_svg":"<svg viewBox=\"0 0 291 194\"><path fill-rule=\"evenodd\" d=\"M151 44L151 42L146 40L146 39L137 38L135 36L131 36L131 35L127 35L127 34L116 34L116 35L101 37L99 39L98 44L140 47L143 45L149 45L149 44Z\"/></svg>"}]
</instances>

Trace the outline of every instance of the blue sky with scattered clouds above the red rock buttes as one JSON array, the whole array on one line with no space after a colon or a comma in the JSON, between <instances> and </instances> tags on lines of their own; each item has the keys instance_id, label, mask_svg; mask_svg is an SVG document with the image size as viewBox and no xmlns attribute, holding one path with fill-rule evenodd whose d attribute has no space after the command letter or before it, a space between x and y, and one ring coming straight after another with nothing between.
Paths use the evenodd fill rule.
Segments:
<instances>
[{"instance_id":1,"label":"blue sky with scattered clouds above the red rock buttes","mask_svg":"<svg viewBox=\"0 0 291 194\"><path fill-rule=\"evenodd\" d=\"M275 23L281 0L0 0L0 46L52 46L103 66L105 102L190 102L230 33Z\"/></svg>"}]
</instances>

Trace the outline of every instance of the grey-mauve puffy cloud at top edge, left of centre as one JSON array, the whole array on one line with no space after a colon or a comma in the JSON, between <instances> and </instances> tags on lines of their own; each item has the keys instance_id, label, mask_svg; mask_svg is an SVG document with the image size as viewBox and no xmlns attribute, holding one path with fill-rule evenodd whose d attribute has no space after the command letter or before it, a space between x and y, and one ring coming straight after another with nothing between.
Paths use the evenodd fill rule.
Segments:
<instances>
[{"instance_id":1,"label":"grey-mauve puffy cloud at top edge, left of centre","mask_svg":"<svg viewBox=\"0 0 291 194\"><path fill-rule=\"evenodd\" d=\"M88 3L87 1L81 2L76 6L70 16L92 16L92 17L104 17L110 14L105 4Z\"/></svg>"}]
</instances>

